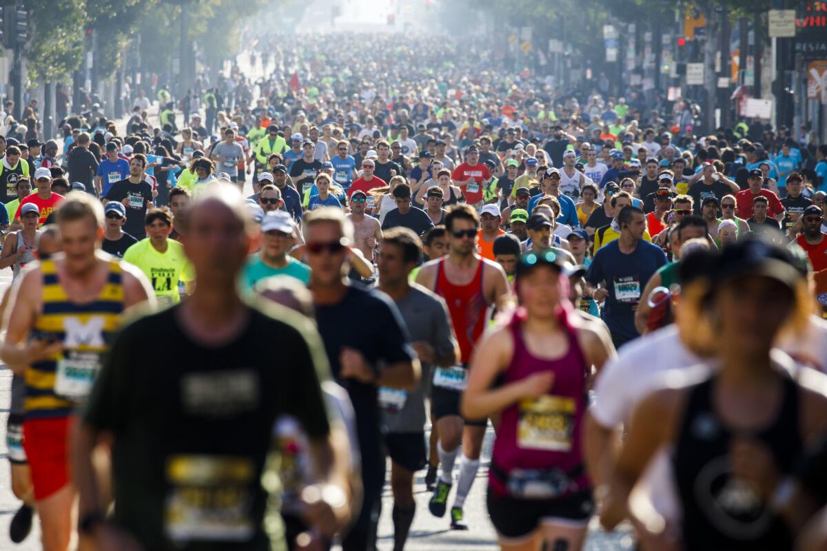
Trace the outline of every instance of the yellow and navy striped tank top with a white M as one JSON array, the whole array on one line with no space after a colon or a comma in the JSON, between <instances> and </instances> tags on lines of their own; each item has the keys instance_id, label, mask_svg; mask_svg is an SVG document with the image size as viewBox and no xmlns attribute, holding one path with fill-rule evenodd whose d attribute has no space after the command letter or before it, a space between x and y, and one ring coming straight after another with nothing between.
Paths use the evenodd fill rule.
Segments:
<instances>
[{"instance_id":1,"label":"yellow and navy striped tank top with a white M","mask_svg":"<svg viewBox=\"0 0 827 551\"><path fill-rule=\"evenodd\" d=\"M41 263L43 311L31 338L62 342L54 358L26 368L26 419L69 416L88 396L123 312L121 264L109 263L107 282L92 302L72 302L52 260Z\"/></svg>"}]
</instances>

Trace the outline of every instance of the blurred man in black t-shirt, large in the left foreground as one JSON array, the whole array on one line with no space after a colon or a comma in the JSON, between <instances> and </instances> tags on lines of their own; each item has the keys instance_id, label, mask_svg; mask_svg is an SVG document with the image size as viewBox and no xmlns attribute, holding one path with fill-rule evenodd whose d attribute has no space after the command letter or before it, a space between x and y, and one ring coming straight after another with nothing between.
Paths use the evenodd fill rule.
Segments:
<instances>
[{"instance_id":1,"label":"blurred man in black t-shirt, large in the left foreground","mask_svg":"<svg viewBox=\"0 0 827 551\"><path fill-rule=\"evenodd\" d=\"M234 291L249 246L247 212L235 187L203 192L184 228L199 277L193 296L137 319L112 345L74 441L79 527L98 546L271 549L264 524L271 487L262 474L282 414L308 435L316 483L302 499L310 524L330 538L347 523L350 482L333 460L318 333L306 318L248 305ZM273 349L284 362L272 363ZM181 392L159 393L159 380ZM219 432L221 439L210 436ZM93 463L106 440L117 504L111 520Z\"/></svg>"}]
</instances>

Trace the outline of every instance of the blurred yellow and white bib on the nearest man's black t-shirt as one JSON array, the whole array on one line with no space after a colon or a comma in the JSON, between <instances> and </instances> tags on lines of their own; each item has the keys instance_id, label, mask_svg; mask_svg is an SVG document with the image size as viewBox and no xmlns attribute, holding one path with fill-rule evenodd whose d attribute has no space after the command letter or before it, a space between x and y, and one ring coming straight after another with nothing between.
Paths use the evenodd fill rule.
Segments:
<instances>
[{"instance_id":1,"label":"blurred yellow and white bib on the nearest man's black t-shirt","mask_svg":"<svg viewBox=\"0 0 827 551\"><path fill-rule=\"evenodd\" d=\"M246 541L255 533L251 516L256 469L250 458L176 455L167 460L170 491L165 532L176 543Z\"/></svg>"}]
</instances>

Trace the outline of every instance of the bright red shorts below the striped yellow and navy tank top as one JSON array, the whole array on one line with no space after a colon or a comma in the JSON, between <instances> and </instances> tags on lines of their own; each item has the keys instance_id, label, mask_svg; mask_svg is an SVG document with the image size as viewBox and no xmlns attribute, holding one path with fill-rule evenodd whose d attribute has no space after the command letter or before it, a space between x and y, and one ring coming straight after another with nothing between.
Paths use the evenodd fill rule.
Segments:
<instances>
[{"instance_id":1,"label":"bright red shorts below the striped yellow and navy tank top","mask_svg":"<svg viewBox=\"0 0 827 551\"><path fill-rule=\"evenodd\" d=\"M23 422L23 447L29 458L35 501L41 501L69 483L69 430L74 417L32 419Z\"/></svg>"}]
</instances>

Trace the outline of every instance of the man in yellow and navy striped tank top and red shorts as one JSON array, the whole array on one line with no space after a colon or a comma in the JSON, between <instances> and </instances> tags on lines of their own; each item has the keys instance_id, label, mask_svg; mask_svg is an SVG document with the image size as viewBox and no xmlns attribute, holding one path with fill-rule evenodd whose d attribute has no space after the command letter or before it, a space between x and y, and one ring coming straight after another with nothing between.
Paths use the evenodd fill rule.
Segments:
<instances>
[{"instance_id":1,"label":"man in yellow and navy striped tank top and red shorts","mask_svg":"<svg viewBox=\"0 0 827 551\"><path fill-rule=\"evenodd\" d=\"M122 311L153 302L143 274L96 252L99 202L71 192L57 218L65 255L19 278L0 348L3 361L26 380L23 445L46 551L68 549L74 530L67 450L74 409L88 395ZM72 377L73 369L79 375Z\"/></svg>"}]
</instances>

